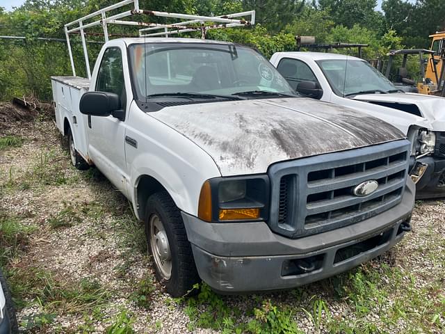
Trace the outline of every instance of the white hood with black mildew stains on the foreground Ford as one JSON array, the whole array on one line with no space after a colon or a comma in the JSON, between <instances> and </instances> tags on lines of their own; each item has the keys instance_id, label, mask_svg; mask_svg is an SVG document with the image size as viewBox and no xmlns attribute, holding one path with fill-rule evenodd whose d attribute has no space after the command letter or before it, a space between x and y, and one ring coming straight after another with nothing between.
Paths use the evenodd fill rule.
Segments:
<instances>
[{"instance_id":1,"label":"white hood with black mildew stains on the foreground Ford","mask_svg":"<svg viewBox=\"0 0 445 334\"><path fill-rule=\"evenodd\" d=\"M200 146L223 176L266 173L277 161L405 138L378 118L305 98L171 106L149 116Z\"/></svg>"}]
</instances>

